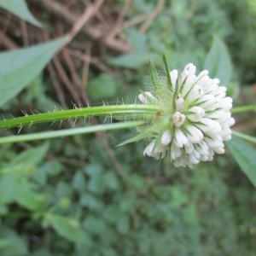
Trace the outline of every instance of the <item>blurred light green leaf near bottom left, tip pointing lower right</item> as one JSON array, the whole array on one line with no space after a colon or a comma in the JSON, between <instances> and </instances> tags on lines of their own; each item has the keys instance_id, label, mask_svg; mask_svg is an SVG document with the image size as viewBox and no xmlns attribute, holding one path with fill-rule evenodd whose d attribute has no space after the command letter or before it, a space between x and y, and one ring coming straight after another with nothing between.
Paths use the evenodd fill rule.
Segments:
<instances>
[{"instance_id":1,"label":"blurred light green leaf near bottom left, tip pointing lower right","mask_svg":"<svg viewBox=\"0 0 256 256\"><path fill-rule=\"evenodd\" d=\"M44 221L53 227L60 236L67 238L69 241L77 243L88 241L88 237L84 233L84 230L81 229L79 222L74 219L46 213Z\"/></svg>"}]
</instances>

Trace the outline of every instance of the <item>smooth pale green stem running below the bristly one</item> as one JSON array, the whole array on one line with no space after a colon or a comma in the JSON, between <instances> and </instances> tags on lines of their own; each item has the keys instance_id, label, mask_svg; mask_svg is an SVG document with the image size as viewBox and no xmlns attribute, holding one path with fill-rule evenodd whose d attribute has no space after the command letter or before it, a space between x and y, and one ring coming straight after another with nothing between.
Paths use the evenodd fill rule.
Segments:
<instances>
[{"instance_id":1,"label":"smooth pale green stem running below the bristly one","mask_svg":"<svg viewBox=\"0 0 256 256\"><path fill-rule=\"evenodd\" d=\"M18 142L25 142L25 141L27 142L27 141L34 141L34 140L49 139L54 137L67 137L67 136L72 136L76 134L84 134L84 133L91 133L91 132L97 132L97 131L113 131L118 129L136 127L141 124L142 122L131 121L131 122L116 123L116 124L92 125L87 127L73 128L73 129L60 130L60 131L45 131L45 132L38 132L38 133L25 134L25 135L0 137L0 144L18 143Z\"/></svg>"}]
</instances>

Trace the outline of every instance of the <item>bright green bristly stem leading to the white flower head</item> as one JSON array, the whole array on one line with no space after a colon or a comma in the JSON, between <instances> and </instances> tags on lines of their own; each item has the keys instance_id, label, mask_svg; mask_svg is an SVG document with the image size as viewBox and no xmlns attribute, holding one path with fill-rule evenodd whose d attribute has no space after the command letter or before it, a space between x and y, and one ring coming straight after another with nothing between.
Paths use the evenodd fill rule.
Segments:
<instances>
[{"instance_id":1,"label":"bright green bristly stem leading to the white flower head","mask_svg":"<svg viewBox=\"0 0 256 256\"><path fill-rule=\"evenodd\" d=\"M4 119L0 121L0 130L13 127L22 127L24 125L34 125L44 122L63 121L67 119L89 118L100 115L114 114L137 114L137 113L156 113L160 109L151 105L116 105L116 106L100 106L91 108L75 108L69 110L55 111L51 113L26 114L25 116Z\"/></svg>"}]
</instances>

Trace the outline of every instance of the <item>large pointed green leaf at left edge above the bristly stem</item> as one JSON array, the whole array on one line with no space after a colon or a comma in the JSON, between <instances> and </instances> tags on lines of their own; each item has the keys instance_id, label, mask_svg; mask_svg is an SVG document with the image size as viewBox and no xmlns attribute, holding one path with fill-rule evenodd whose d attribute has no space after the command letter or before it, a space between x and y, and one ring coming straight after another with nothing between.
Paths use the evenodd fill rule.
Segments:
<instances>
[{"instance_id":1,"label":"large pointed green leaf at left edge above the bristly stem","mask_svg":"<svg viewBox=\"0 0 256 256\"><path fill-rule=\"evenodd\" d=\"M44 44L1 53L0 107L32 82L65 43L67 37L62 37Z\"/></svg>"}]
</instances>

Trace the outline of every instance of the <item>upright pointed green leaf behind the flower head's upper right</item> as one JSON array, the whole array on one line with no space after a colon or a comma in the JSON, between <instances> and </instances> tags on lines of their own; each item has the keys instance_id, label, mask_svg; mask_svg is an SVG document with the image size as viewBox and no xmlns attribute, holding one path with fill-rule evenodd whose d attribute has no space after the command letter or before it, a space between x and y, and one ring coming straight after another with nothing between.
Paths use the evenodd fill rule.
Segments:
<instances>
[{"instance_id":1,"label":"upright pointed green leaf behind the flower head's upper right","mask_svg":"<svg viewBox=\"0 0 256 256\"><path fill-rule=\"evenodd\" d=\"M220 80L220 84L228 86L233 73L232 62L229 51L224 42L214 37L212 48L207 54L204 68L207 69L212 78Z\"/></svg>"}]
</instances>

